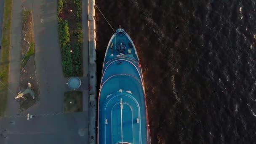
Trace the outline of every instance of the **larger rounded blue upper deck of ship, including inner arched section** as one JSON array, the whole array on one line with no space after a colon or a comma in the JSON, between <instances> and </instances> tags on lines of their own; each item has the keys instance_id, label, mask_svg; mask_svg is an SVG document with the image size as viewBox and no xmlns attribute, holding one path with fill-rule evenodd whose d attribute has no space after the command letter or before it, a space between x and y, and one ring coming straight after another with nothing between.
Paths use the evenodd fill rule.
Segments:
<instances>
[{"instance_id":1,"label":"larger rounded blue upper deck of ship, including inner arched section","mask_svg":"<svg viewBox=\"0 0 256 144\"><path fill-rule=\"evenodd\" d=\"M116 144L122 141L123 136L123 142L146 143L146 109L140 81L129 75L113 75L102 85L100 94L99 126L101 139L104 139L102 142Z\"/></svg>"}]
</instances>

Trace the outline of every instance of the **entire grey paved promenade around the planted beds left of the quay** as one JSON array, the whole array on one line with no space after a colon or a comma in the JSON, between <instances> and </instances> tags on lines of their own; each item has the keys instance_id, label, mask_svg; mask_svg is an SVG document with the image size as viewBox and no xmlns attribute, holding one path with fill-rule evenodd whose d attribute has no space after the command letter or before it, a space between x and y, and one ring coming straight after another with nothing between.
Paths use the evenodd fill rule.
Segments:
<instances>
[{"instance_id":1,"label":"entire grey paved promenade around the planted beds left of the quay","mask_svg":"<svg viewBox=\"0 0 256 144\"><path fill-rule=\"evenodd\" d=\"M10 81L10 88L12 88L12 91L17 91L16 87L19 86L19 70L14 68L18 67L18 63L15 63L15 56L18 56L18 53L20 56L19 43L21 39L20 18L22 5L33 12L35 61L40 86L40 102L21 115L30 113L38 116L29 121L27 117L0 119L0 129L6 130L5 135L7 136L4 139L0 138L0 144L2 144L2 141L3 144L88 144L88 108L84 107L84 112L72 114L62 113L64 91L69 91L69 88L66 85L68 78L63 77L61 67L57 0L22 1L24 3L21 3L21 0L13 0L12 40L16 40L16 42L12 42L12 45L13 48L14 44L17 46L17 49L15 49L17 52L14 52L14 49L11 50L14 55L11 55L11 60L13 61L11 69L13 72L10 75L13 78ZM88 33L87 29L84 29L83 32ZM86 37L84 38L86 39ZM85 55L85 51L83 51L83 55ZM85 65L88 60L86 61L86 57L84 58L83 63ZM86 67L84 73L86 74ZM86 82L88 78L84 77L83 80ZM88 95L86 94L88 90L83 92L84 99L88 99ZM9 97L11 98L11 95ZM18 107L16 107L16 101L13 98L8 103L8 115L17 114Z\"/></svg>"}]
</instances>

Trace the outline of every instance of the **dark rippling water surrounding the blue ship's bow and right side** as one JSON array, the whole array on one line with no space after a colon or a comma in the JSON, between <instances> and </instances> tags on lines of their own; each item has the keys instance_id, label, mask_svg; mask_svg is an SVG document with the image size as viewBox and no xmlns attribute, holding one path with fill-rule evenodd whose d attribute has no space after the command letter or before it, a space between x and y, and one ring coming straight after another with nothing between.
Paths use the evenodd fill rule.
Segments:
<instances>
[{"instance_id":1,"label":"dark rippling water surrounding the blue ship's bow and right side","mask_svg":"<svg viewBox=\"0 0 256 144\"><path fill-rule=\"evenodd\" d=\"M255 0L96 0L136 45L152 144L256 143ZM99 75L113 34L97 11Z\"/></svg>"}]
</instances>

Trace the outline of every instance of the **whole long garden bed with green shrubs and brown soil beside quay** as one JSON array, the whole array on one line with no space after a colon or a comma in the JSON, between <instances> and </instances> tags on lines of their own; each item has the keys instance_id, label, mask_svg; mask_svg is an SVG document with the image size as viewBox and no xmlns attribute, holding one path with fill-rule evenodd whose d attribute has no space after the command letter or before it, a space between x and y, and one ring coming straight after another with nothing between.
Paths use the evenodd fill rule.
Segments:
<instances>
[{"instance_id":1,"label":"whole long garden bed with green shrubs and brown soil beside quay","mask_svg":"<svg viewBox=\"0 0 256 144\"><path fill-rule=\"evenodd\" d=\"M82 76L82 0L58 0L58 24L64 76Z\"/></svg>"}]
</instances>

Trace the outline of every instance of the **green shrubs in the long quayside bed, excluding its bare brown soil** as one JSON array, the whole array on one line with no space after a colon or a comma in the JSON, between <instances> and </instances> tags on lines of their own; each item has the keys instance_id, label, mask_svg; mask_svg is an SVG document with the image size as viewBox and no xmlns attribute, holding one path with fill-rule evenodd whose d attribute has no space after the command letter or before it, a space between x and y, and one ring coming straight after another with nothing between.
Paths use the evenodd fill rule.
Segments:
<instances>
[{"instance_id":1,"label":"green shrubs in the long quayside bed, excluding its bare brown soil","mask_svg":"<svg viewBox=\"0 0 256 144\"><path fill-rule=\"evenodd\" d=\"M58 17L59 25L59 41L61 47L61 65L64 73L64 77L82 76L82 43L83 43L83 30L82 30L82 1L74 0L77 5L76 21L77 31L69 32L68 21L63 21ZM65 6L65 0L58 1L58 14L61 13L63 6ZM65 6L66 7L66 6ZM70 46L70 33L77 36L77 41L72 45L72 52Z\"/></svg>"}]
</instances>

